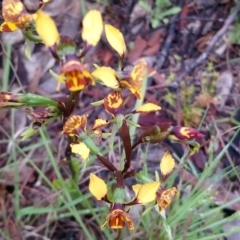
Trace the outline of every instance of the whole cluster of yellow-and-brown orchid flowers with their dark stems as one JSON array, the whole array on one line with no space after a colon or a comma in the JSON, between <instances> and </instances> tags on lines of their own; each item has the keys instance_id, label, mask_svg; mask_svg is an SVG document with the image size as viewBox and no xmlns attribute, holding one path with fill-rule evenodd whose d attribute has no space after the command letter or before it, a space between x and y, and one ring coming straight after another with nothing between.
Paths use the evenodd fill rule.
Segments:
<instances>
[{"instance_id":1,"label":"whole cluster of yellow-and-brown orchid flowers with their dark stems","mask_svg":"<svg viewBox=\"0 0 240 240\"><path fill-rule=\"evenodd\" d=\"M72 154L76 154L82 161L87 161L89 155L92 154L109 170L114 180L111 186L107 186L103 179L90 173L89 191L98 201L105 201L110 205L109 214L106 216L102 228L108 224L113 229L121 229L124 226L128 226L130 230L134 229L133 220L128 214L129 208L136 204L146 205L150 203L152 206L154 204L158 213L163 216L164 227L171 239L171 229L166 222L165 209L178 195L178 190L175 187L166 188L164 184L174 171L175 160L171 153L166 151L160 159L160 177L156 171L156 179L153 180L133 168L133 150L140 144L159 143L169 138L188 144L191 153L193 153L200 146L195 140L202 138L203 134L192 128L172 126L170 123L159 124L145 129L132 145L129 126L141 126L130 121L129 117L133 114L148 114L161 109L160 106L147 102L130 113L125 113L125 99L122 92L128 90L137 99L143 99L142 84L144 77L147 76L147 62L140 59L133 67L124 68L124 57L127 52L124 37L114 26L104 25L101 13L97 10L91 10L84 16L81 33L84 48L79 57L76 43L69 37L60 36L54 20L42 10L42 6L47 2L48 0L40 1L39 9L34 14L30 14L20 0L3 0L2 8L5 21L0 26L0 31L10 32L20 29L28 40L34 42L40 40L53 57L59 61L59 74L54 73L53 75L59 84L65 83L69 96L66 101L56 102L36 94L0 92L0 108L46 107L43 111L26 108L28 117L32 122L23 134L24 139L37 132L36 126L46 126L53 120L61 118L63 122L62 134L67 135L65 158L68 160L73 179L78 179L78 172L74 170L71 161ZM92 47L97 45L103 29L107 42L118 54L119 67L115 70L109 66L97 66L90 73L84 65L83 57ZM33 34L35 31L38 36ZM74 115L73 112L78 105L80 92L90 84L94 86L95 81L112 89L104 99L98 101L97 104L95 103L95 105L103 106L109 114L109 118L95 119L93 126L89 127L87 115ZM105 126L112 127L110 133L101 130ZM111 136L111 148L117 133L120 136L124 151L123 154L119 154L124 156L121 158L120 167L116 167L110 159L103 156L98 147L102 139L108 134ZM126 201L125 184L129 177L135 177L138 183L132 186L135 196Z\"/></svg>"}]
</instances>

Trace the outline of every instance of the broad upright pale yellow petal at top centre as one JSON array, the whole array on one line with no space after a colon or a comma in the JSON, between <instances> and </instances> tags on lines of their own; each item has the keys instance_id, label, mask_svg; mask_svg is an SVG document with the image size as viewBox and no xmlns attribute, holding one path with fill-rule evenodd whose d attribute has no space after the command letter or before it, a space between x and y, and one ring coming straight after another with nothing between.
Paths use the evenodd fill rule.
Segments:
<instances>
[{"instance_id":1,"label":"broad upright pale yellow petal at top centre","mask_svg":"<svg viewBox=\"0 0 240 240\"><path fill-rule=\"evenodd\" d=\"M97 45L103 30L101 13L97 10L89 11L83 18L82 24L82 39L92 46Z\"/></svg>"}]
</instances>

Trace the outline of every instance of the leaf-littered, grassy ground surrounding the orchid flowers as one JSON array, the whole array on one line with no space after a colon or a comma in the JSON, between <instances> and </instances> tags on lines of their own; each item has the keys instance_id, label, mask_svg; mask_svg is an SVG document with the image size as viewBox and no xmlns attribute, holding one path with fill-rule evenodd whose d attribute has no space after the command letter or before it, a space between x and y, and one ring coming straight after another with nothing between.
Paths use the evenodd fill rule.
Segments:
<instances>
[{"instance_id":1,"label":"leaf-littered, grassy ground surrounding the orchid flowers","mask_svg":"<svg viewBox=\"0 0 240 240\"><path fill-rule=\"evenodd\" d=\"M38 1L23 2L29 12L36 11ZM44 7L61 35L74 39L79 49L83 47L81 21L90 9L100 10L104 22L123 33L127 45L125 67L135 65L141 58L148 63L144 102L160 105L161 111L140 116L138 123L143 128L171 123L198 128L205 135L199 142L199 152L191 157L184 155L186 145L170 141L148 148L148 172L152 176L166 150L176 159L182 158L169 180L169 185L176 185L180 190L179 201L168 212L168 223L175 234L173 239L207 239L205 235L208 239L238 239L239 235L234 238L230 229L239 225L236 219L240 210L240 3L232 0L52 0ZM49 69L59 72L59 62L42 44L31 45L30 52L31 60L26 57L21 31L1 34L1 90L30 92L56 101L66 99L68 90L61 85L60 91L56 91L57 81L49 73ZM85 56L84 63L92 71L93 64L116 67L117 60L117 54L102 36L100 43ZM88 114L90 125L96 118L109 118L102 107L91 105L109 92L104 86L89 86L81 93L74 113ZM129 91L124 92L124 98L126 111L132 111L136 98ZM1 110L0 121L1 239L111 239L111 236L170 239L167 234L159 235L159 231L166 230L162 224L158 226L146 219L134 233L126 230L122 237L118 232L100 229L107 211L95 210L105 205L87 195L89 172L109 177L98 162L82 164L77 186L66 183L65 187L71 190L61 199L59 191L65 188L56 179L58 174L67 179L71 171L64 160L67 141L61 133L61 122L54 121L41 134L21 141L20 135L30 123L24 109ZM141 130L136 131L136 135L140 133ZM108 144L103 142L103 148L107 149ZM145 151L143 146L134 152L132 164L136 170L144 165ZM108 156L114 163L119 162L116 151L111 150ZM134 181L129 180L129 185ZM58 191L49 187L49 182ZM179 214L182 218L178 218L178 209L185 216ZM130 211L134 221L141 217L142 211L137 207ZM211 219L208 212L217 220ZM153 216L162 222L159 216ZM201 216L205 216L204 220ZM147 223L152 223L152 231Z\"/></svg>"}]
</instances>

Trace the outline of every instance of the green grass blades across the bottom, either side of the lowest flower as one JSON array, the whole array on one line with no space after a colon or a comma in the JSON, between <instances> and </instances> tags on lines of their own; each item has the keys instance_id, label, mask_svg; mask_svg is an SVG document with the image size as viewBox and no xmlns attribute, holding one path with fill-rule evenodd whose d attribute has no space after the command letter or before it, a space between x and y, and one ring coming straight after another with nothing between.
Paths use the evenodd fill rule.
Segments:
<instances>
[{"instance_id":1,"label":"green grass blades across the bottom, either side of the lowest flower","mask_svg":"<svg viewBox=\"0 0 240 240\"><path fill-rule=\"evenodd\" d=\"M0 127L0 131L5 135L5 139L1 140L1 143L12 142L11 152L6 154L2 153L1 158L8 157L8 164L0 169L0 176L6 171L12 171L14 176L15 191L13 194L13 206L14 213L17 221L22 222L23 225L32 226L33 231L37 229L37 221L41 217L46 219L44 234L48 237L51 232L51 224L59 219L74 218L74 220L82 229L84 236L87 239L99 239L99 236L95 236L94 232L89 229L89 216L96 222L98 227L104 222L105 216L108 214L108 207L96 207L93 197L88 191L87 186L78 186L78 182L73 182L70 179L64 179L62 172L60 171L59 162L56 159L56 149L52 147L52 141L48 132L45 129L40 131L40 135L35 143L29 142L28 146L23 148L19 147L20 140L14 138L15 128L14 119L15 110L11 110L9 116L12 123L11 133L8 134L5 129ZM235 135L239 130L236 131ZM234 136L233 136L234 138ZM233 139L232 138L232 139ZM226 153L227 148L231 144L232 140L222 149L222 151L214 157L213 154L209 154L209 158L203 172L198 173L195 166L191 163L191 160L185 159L187 154L182 159L178 160L179 164L172 176L167 181L167 187L174 186L176 178L178 179L177 188L180 191L180 196L175 197L172 205L166 211L166 218L159 215L154 209L148 211L146 214L138 219L139 222L135 223L135 229L128 231L123 229L121 231L121 239L220 239L221 237L230 235L231 232L239 231L233 229L228 233L222 231L223 226L234 219L239 219L239 214L236 213L230 217L225 217L223 209L227 208L233 203L239 202L240 197L233 199L230 202L219 203L212 193L212 187L221 183L223 178L226 178L230 174L236 173L236 169L223 169L216 172L217 167L220 165L223 155ZM209 145L211 149L209 152L213 152L213 145ZM117 146L115 146L117 148ZM41 149L45 152L45 157L38 159L30 155L29 152L35 152ZM102 149L103 153L107 153L107 149ZM151 176L151 173L147 167L147 151L151 151L147 146L142 152L140 159L143 160L143 169L145 174ZM20 160L21 159L21 160ZM87 166L80 164L79 176L84 176L83 172L89 167L94 165L96 161L95 157L92 157ZM42 165L39 166L39 163ZM47 188L51 194L46 204L46 199L41 199L35 205L23 206L22 201L22 185L18 184L21 179L20 166L22 164L31 166L39 175L41 185ZM50 165L54 171L57 180L51 182L46 176L46 165ZM190 172L192 176L197 179L196 184L193 186L183 180L179 174L179 169L184 168ZM156 169L158 170L158 169ZM85 179L79 179L79 182ZM210 183L206 186L204 183ZM204 187L203 187L203 186ZM142 212L145 207L142 207ZM132 212L132 213L131 213ZM130 211L130 215L136 213L136 210ZM7 216L6 216L7 217ZM7 232L1 233L6 239L11 239L11 236ZM106 227L102 231L102 239L115 239L114 231L111 231ZM171 238L172 236L172 238Z\"/></svg>"}]
</instances>

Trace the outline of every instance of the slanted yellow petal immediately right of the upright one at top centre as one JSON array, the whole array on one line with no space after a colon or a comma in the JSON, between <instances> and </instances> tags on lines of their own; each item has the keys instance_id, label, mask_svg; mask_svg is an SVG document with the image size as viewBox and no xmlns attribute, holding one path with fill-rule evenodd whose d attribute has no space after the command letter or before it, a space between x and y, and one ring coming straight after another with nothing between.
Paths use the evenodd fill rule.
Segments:
<instances>
[{"instance_id":1,"label":"slanted yellow petal immediately right of the upright one at top centre","mask_svg":"<svg viewBox=\"0 0 240 240\"><path fill-rule=\"evenodd\" d=\"M108 43L120 56L126 52L126 44L122 33L110 24L105 24L105 33Z\"/></svg>"}]
</instances>

